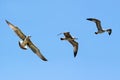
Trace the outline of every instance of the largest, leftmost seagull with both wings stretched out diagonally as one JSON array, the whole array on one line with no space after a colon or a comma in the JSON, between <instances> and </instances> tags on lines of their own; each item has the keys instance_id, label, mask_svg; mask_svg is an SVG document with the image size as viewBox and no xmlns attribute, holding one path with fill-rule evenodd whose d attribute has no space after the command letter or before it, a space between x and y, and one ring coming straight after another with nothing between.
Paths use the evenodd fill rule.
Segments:
<instances>
[{"instance_id":1,"label":"largest, leftmost seagull with both wings stretched out diagonally","mask_svg":"<svg viewBox=\"0 0 120 80\"><path fill-rule=\"evenodd\" d=\"M37 54L43 61L47 61L47 59L41 54L40 50L32 43L30 40L31 36L26 36L24 33L17 27L11 24L6 20L6 23L9 25L12 30L22 39L22 42L19 41L20 48L26 50L26 46L28 46L35 54Z\"/></svg>"}]
</instances>

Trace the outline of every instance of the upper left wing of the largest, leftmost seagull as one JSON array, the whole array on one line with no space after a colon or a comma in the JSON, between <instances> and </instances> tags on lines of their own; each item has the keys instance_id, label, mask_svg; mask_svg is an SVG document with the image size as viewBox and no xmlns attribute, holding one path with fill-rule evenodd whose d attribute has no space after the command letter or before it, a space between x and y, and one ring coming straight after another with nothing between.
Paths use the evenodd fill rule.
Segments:
<instances>
[{"instance_id":1,"label":"upper left wing of the largest, leftmost seagull","mask_svg":"<svg viewBox=\"0 0 120 80\"><path fill-rule=\"evenodd\" d=\"M6 20L6 23L9 25L9 27L15 31L15 33L19 36L19 38L21 38L22 40L25 39L25 35L23 34L23 32L16 26L14 26L12 23L10 23L9 21Z\"/></svg>"}]
</instances>

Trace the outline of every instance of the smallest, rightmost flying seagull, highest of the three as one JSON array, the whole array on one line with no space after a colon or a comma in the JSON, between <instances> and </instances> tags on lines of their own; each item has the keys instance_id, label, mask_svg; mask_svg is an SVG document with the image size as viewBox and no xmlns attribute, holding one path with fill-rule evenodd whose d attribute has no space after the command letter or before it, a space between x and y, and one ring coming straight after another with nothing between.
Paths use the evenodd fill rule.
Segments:
<instances>
[{"instance_id":1,"label":"smallest, rightmost flying seagull, highest of the three","mask_svg":"<svg viewBox=\"0 0 120 80\"><path fill-rule=\"evenodd\" d=\"M112 29L106 29L106 30L103 30L103 29L102 29L102 26L101 26L101 22L100 22L100 20L95 19L95 18L87 18L87 20L89 20L89 21L93 21L93 22L96 23L96 26L97 26L98 32L95 32L95 34L99 34L99 33L103 33L103 32L108 32L108 34L111 35L111 33L112 33Z\"/></svg>"}]
</instances>

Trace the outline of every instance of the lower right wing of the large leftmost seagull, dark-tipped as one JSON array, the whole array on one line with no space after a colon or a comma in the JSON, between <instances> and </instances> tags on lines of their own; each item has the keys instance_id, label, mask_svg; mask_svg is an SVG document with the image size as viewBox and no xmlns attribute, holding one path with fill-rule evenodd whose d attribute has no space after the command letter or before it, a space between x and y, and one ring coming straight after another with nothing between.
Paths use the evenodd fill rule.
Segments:
<instances>
[{"instance_id":1,"label":"lower right wing of the large leftmost seagull, dark-tipped","mask_svg":"<svg viewBox=\"0 0 120 80\"><path fill-rule=\"evenodd\" d=\"M42 60L47 61L47 59L42 55L42 53L40 52L40 50L31 42L28 42L28 46L29 48L35 53L37 54Z\"/></svg>"}]
</instances>

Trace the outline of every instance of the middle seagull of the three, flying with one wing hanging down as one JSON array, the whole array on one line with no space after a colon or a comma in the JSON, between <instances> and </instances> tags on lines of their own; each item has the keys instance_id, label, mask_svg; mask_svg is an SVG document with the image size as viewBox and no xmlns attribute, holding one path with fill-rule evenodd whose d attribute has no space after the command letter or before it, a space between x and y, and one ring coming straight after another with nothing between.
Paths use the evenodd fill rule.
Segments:
<instances>
[{"instance_id":1,"label":"middle seagull of the three, flying with one wing hanging down","mask_svg":"<svg viewBox=\"0 0 120 80\"><path fill-rule=\"evenodd\" d=\"M77 52L78 52L78 42L76 42L75 39L77 39L77 38L73 38L70 35L70 32L64 32L63 34L64 34L65 38L60 38L60 40L67 40L69 43L72 44L72 46L74 47L74 57L76 57Z\"/></svg>"}]
</instances>

